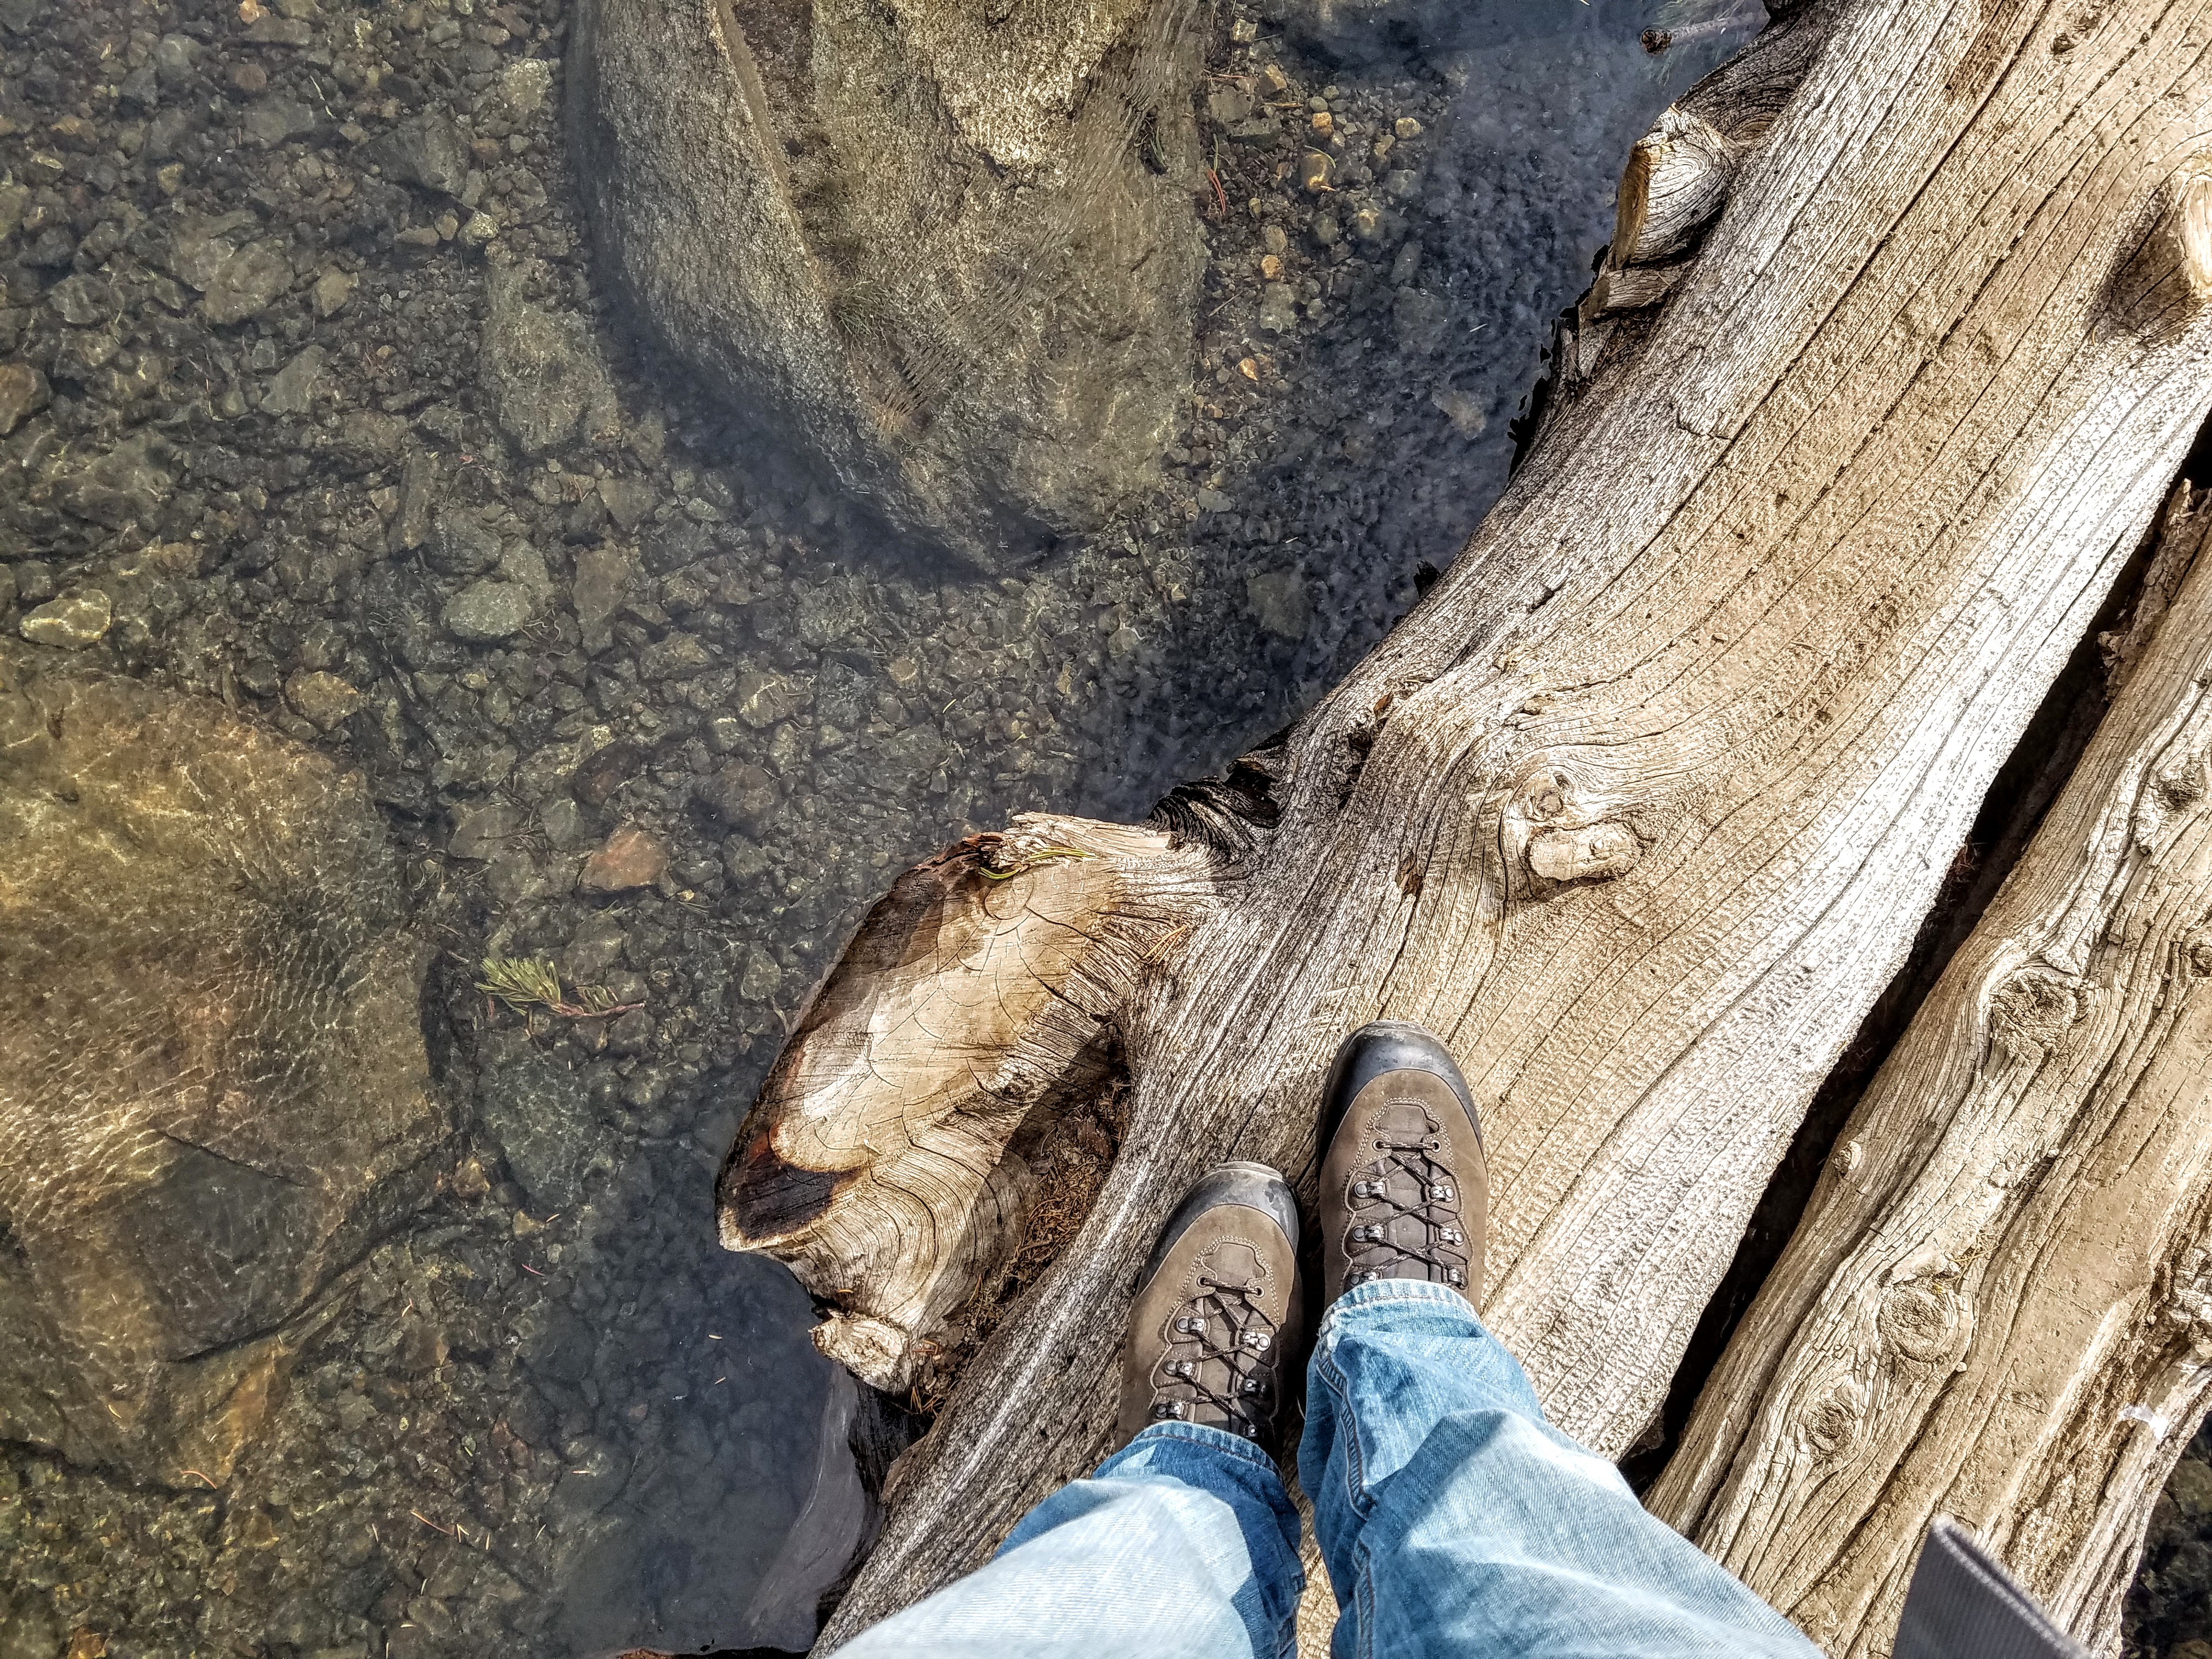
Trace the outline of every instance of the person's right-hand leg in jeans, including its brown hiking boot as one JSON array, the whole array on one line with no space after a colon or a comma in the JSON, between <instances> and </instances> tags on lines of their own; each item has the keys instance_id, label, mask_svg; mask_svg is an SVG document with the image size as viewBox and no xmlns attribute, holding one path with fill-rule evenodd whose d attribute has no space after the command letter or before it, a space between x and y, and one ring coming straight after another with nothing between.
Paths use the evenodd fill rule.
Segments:
<instances>
[{"instance_id":1,"label":"person's right-hand leg in jeans, including its brown hiking boot","mask_svg":"<svg viewBox=\"0 0 2212 1659\"><path fill-rule=\"evenodd\" d=\"M1444 1044L1407 1024L1352 1033L1323 1146L1334 1301L1307 1367L1298 1480L1343 1606L1338 1659L1818 1659L1610 1462L1544 1422L1475 1318L1489 1168Z\"/></svg>"}]
</instances>

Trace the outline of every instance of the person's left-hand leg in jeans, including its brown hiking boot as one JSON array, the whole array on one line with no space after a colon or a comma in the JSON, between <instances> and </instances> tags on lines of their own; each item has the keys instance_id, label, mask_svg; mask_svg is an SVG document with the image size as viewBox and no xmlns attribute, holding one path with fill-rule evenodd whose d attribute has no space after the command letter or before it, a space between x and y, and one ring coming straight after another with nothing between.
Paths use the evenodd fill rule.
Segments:
<instances>
[{"instance_id":1,"label":"person's left-hand leg in jeans, including its brown hiking boot","mask_svg":"<svg viewBox=\"0 0 2212 1659\"><path fill-rule=\"evenodd\" d=\"M1274 1447L1301 1318L1298 1206L1274 1170L1223 1164L1137 1276L1121 1449L1037 1504L980 1573L838 1652L1290 1655L1305 1575Z\"/></svg>"}]
</instances>

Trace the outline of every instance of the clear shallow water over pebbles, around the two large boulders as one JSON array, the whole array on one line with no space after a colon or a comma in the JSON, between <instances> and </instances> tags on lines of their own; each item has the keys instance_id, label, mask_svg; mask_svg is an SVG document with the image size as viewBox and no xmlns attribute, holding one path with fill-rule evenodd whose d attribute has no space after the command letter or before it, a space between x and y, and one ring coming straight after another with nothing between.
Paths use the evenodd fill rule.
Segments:
<instances>
[{"instance_id":1,"label":"clear shallow water over pebbles, around the two large boulders","mask_svg":"<svg viewBox=\"0 0 2212 1659\"><path fill-rule=\"evenodd\" d=\"M790 1276L714 1248L710 1201L787 1022L902 865L1024 807L1141 814L1380 637L1502 487L1628 144L1741 13L1650 58L1646 27L1699 18L1498 7L1471 49L1374 71L1263 31L1261 58L1298 95L1336 86L1363 137L1420 124L1409 230L1323 241L1345 204L1232 155L1245 208L1208 232L1199 398L1161 495L980 582L876 546L597 303L555 0L272 7L283 40L250 40L234 4L0 4L0 168L29 204L0 243L0 361L53 387L0 440L0 622L115 586L144 542L199 549L144 626L71 664L228 697L367 774L440 947L425 1018L458 1137L420 1223L294 1321L290 1387L226 1480L7 1447L0 1655L58 1657L75 1630L115 1659L801 1646L867 1524L860 1402ZM425 115L453 124L458 192L369 170ZM177 288L179 232L230 212L294 281L212 323ZM489 248L465 212L495 221ZM1261 316L1270 228L1287 325ZM604 356L606 442L531 460L491 418L493 265ZM113 312L69 310L80 274ZM1265 385L1237 369L1252 354ZM148 522L49 504L75 465L58 445L144 431L175 447ZM451 626L482 580L467 524L540 560L507 637ZM299 675L361 708L323 730ZM580 894L622 825L666 876ZM641 1013L524 1020L473 991L484 956L549 958Z\"/></svg>"}]
</instances>

